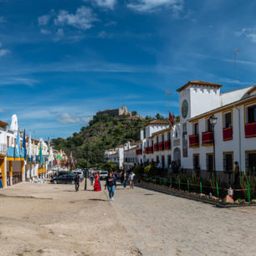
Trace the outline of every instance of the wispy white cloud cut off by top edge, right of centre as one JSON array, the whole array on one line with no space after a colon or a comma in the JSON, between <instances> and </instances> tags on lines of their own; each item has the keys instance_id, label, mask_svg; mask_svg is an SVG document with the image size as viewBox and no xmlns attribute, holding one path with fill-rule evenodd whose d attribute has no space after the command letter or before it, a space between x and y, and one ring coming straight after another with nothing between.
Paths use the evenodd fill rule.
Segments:
<instances>
[{"instance_id":1,"label":"wispy white cloud cut off by top edge, right of centre","mask_svg":"<svg viewBox=\"0 0 256 256\"><path fill-rule=\"evenodd\" d=\"M177 15L183 9L183 0L131 0L127 7L140 13L155 12L158 8L171 8L173 14Z\"/></svg>"}]
</instances>

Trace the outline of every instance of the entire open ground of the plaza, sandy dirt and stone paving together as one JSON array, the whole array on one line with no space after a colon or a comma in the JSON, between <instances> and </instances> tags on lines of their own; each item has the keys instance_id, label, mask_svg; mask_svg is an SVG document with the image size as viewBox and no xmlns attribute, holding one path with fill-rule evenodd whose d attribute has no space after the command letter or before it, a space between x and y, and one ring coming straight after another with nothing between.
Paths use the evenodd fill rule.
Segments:
<instances>
[{"instance_id":1,"label":"entire open ground of the plaza, sandy dirt and stone paving together","mask_svg":"<svg viewBox=\"0 0 256 256\"><path fill-rule=\"evenodd\" d=\"M81 186L83 187L83 183ZM218 208L136 187L0 192L0 255L255 255L256 207Z\"/></svg>"}]
</instances>

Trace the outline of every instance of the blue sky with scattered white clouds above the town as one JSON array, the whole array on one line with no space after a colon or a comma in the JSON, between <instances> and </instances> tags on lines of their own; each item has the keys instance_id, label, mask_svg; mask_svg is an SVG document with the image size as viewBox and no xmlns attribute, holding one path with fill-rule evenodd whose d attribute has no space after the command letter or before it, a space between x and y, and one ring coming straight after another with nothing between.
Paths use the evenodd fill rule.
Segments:
<instances>
[{"instance_id":1,"label":"blue sky with scattered white clouds above the town","mask_svg":"<svg viewBox=\"0 0 256 256\"><path fill-rule=\"evenodd\" d=\"M255 82L255 1L0 0L0 120L67 137L98 110L178 114L188 80ZM236 87L233 52L238 53Z\"/></svg>"}]
</instances>

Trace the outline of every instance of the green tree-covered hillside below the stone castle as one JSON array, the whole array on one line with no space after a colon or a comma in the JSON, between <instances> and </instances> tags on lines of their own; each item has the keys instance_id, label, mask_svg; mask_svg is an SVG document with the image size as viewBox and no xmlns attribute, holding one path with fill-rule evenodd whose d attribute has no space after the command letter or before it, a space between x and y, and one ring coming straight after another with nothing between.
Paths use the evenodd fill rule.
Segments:
<instances>
[{"instance_id":1,"label":"green tree-covered hillside below the stone castle","mask_svg":"<svg viewBox=\"0 0 256 256\"><path fill-rule=\"evenodd\" d=\"M89 166L100 164L104 160L104 152L127 141L139 141L140 131L151 120L131 120L127 116L116 118L104 115L95 115L93 120L79 132L67 139L58 138L52 141L54 148L63 149L66 153L72 151L78 166L85 166L88 149ZM87 142L88 141L88 142Z\"/></svg>"}]
</instances>

